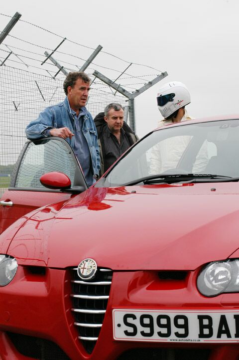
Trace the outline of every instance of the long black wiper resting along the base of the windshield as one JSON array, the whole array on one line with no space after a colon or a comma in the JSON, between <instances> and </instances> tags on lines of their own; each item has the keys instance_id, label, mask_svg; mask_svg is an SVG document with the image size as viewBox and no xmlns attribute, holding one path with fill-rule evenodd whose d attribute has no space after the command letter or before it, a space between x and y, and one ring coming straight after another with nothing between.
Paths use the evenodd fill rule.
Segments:
<instances>
[{"instance_id":1,"label":"long black wiper resting along the base of the windshield","mask_svg":"<svg viewBox=\"0 0 239 360\"><path fill-rule=\"evenodd\" d=\"M124 184L127 185L136 185L140 182L143 184L155 184L155 183L174 183L180 181L187 182L217 182L217 181L239 181L239 178L232 178L224 175L216 174L158 174L150 175L143 177L137 180L132 180Z\"/></svg>"}]
</instances>

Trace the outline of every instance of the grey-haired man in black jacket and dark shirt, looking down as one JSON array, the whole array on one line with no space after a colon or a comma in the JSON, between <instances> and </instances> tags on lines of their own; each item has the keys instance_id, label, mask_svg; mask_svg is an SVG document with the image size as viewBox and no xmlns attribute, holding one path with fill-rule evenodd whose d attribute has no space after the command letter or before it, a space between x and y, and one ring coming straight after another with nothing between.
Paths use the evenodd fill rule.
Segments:
<instances>
[{"instance_id":1,"label":"grey-haired man in black jacket and dark shirt, looking down","mask_svg":"<svg viewBox=\"0 0 239 360\"><path fill-rule=\"evenodd\" d=\"M123 121L124 111L120 104L106 106L105 113L99 113L95 119L103 175L138 137Z\"/></svg>"}]
</instances>

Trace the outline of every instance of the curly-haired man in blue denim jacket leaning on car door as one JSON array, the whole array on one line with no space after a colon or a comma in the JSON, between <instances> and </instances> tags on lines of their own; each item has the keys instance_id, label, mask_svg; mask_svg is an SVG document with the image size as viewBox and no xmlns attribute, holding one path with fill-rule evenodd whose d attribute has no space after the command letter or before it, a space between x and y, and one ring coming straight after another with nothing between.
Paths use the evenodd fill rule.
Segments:
<instances>
[{"instance_id":1,"label":"curly-haired man in blue denim jacket leaning on car door","mask_svg":"<svg viewBox=\"0 0 239 360\"><path fill-rule=\"evenodd\" d=\"M66 98L48 106L26 127L26 137L38 140L57 136L66 139L75 152L88 186L99 177L100 154L97 131L85 105L90 90L90 78L80 71L70 72L63 84Z\"/></svg>"}]
</instances>

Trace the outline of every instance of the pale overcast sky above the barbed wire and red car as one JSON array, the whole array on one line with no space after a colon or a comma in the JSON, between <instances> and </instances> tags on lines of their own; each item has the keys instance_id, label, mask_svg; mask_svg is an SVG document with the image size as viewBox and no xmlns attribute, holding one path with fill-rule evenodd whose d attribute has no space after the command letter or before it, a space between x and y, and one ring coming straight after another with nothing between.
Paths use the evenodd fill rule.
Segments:
<instances>
[{"instance_id":1,"label":"pale overcast sky above the barbed wire and red car","mask_svg":"<svg viewBox=\"0 0 239 360\"><path fill-rule=\"evenodd\" d=\"M168 72L136 98L140 137L161 119L156 94L172 80L189 88L193 117L239 113L238 0L1 2L1 13L16 11L61 36Z\"/></svg>"}]
</instances>

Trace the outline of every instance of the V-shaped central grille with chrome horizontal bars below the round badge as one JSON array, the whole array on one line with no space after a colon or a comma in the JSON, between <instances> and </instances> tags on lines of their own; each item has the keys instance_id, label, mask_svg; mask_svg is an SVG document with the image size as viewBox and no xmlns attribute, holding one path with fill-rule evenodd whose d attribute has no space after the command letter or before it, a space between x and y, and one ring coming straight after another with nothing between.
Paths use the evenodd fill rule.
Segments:
<instances>
[{"instance_id":1,"label":"V-shaped central grille with chrome horizontal bars below the round badge","mask_svg":"<svg viewBox=\"0 0 239 360\"><path fill-rule=\"evenodd\" d=\"M98 269L95 277L83 281L73 269L72 311L75 326L86 351L91 354L98 340L109 299L113 272Z\"/></svg>"}]
</instances>

